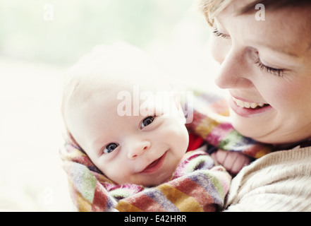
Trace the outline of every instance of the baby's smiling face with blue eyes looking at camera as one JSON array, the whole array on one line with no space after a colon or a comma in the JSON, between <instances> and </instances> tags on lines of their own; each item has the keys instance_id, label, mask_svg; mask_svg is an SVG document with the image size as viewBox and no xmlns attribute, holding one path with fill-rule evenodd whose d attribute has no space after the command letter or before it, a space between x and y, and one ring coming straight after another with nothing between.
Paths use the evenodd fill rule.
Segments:
<instances>
[{"instance_id":1,"label":"baby's smiling face with blue eyes looking at camera","mask_svg":"<svg viewBox=\"0 0 311 226\"><path fill-rule=\"evenodd\" d=\"M185 119L173 98L156 103L150 93L137 102L135 93L127 94L97 90L83 104L75 100L68 107L67 125L109 179L117 184L161 184L188 148Z\"/></svg>"}]
</instances>

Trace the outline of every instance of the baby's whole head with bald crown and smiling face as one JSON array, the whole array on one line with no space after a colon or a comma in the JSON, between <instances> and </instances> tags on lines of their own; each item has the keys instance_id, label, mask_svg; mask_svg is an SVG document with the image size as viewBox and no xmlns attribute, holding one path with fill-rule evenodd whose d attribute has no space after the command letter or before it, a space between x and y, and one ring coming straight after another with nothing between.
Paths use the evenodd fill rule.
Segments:
<instances>
[{"instance_id":1,"label":"baby's whole head with bald crown and smiling face","mask_svg":"<svg viewBox=\"0 0 311 226\"><path fill-rule=\"evenodd\" d=\"M62 113L68 133L117 184L161 184L188 148L178 95L124 44L94 49L73 67Z\"/></svg>"}]
</instances>

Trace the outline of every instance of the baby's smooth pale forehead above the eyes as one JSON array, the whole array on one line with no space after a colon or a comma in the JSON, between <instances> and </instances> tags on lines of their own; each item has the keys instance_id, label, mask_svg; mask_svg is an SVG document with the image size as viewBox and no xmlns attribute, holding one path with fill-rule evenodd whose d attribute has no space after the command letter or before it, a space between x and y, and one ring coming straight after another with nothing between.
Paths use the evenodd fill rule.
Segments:
<instances>
[{"instance_id":1,"label":"baby's smooth pale forehead above the eyes","mask_svg":"<svg viewBox=\"0 0 311 226\"><path fill-rule=\"evenodd\" d=\"M71 95L75 105L95 103L116 107L118 104L132 106L142 104L159 105L159 101L169 100L172 95L170 85L163 81L139 77L105 76L100 73L77 78ZM125 103L126 102L126 103ZM136 107L136 106L134 106Z\"/></svg>"}]
</instances>

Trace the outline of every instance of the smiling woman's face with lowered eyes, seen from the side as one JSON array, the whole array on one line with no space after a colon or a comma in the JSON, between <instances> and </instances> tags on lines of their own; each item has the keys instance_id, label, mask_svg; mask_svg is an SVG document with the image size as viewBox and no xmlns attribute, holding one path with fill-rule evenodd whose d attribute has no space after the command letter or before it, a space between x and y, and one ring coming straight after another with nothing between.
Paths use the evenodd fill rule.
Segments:
<instances>
[{"instance_id":1,"label":"smiling woman's face with lowered eyes, seen from the side","mask_svg":"<svg viewBox=\"0 0 311 226\"><path fill-rule=\"evenodd\" d=\"M311 137L310 7L237 15L250 1L233 1L214 23L216 79L228 89L233 126L264 143Z\"/></svg>"}]
</instances>

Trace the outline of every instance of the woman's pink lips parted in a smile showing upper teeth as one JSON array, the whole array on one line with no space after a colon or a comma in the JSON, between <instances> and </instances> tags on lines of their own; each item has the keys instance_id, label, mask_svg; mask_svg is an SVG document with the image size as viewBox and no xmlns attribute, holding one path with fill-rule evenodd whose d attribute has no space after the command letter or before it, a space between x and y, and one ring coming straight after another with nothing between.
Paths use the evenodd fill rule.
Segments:
<instances>
[{"instance_id":1,"label":"woman's pink lips parted in a smile showing upper teeth","mask_svg":"<svg viewBox=\"0 0 311 226\"><path fill-rule=\"evenodd\" d=\"M263 102L249 102L232 96L229 105L236 114L242 117L255 117L272 109L269 104Z\"/></svg>"}]
</instances>

